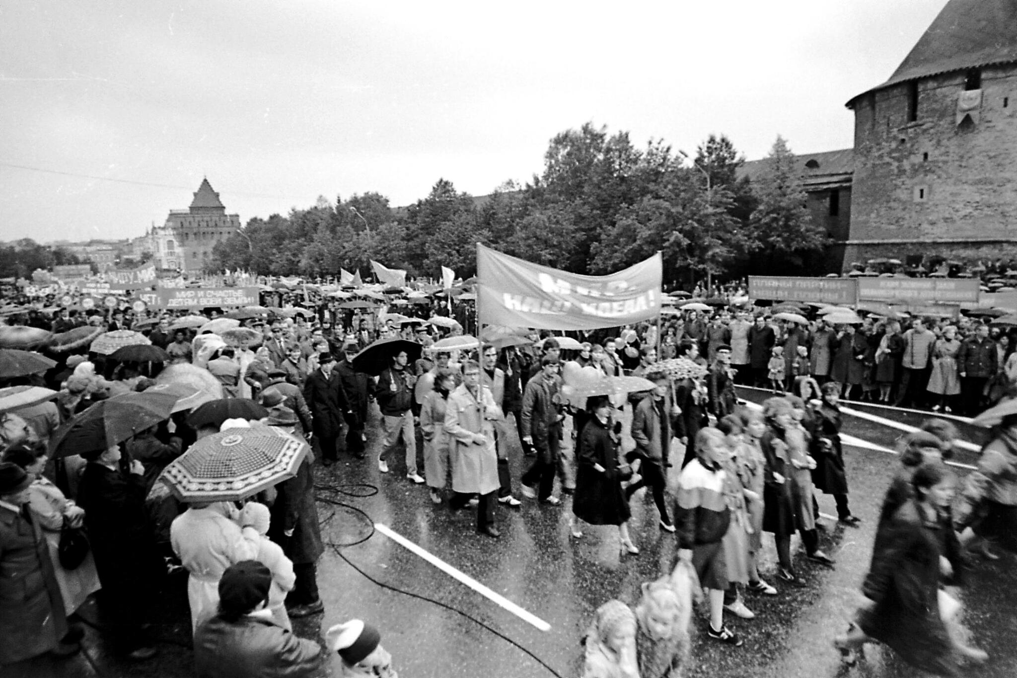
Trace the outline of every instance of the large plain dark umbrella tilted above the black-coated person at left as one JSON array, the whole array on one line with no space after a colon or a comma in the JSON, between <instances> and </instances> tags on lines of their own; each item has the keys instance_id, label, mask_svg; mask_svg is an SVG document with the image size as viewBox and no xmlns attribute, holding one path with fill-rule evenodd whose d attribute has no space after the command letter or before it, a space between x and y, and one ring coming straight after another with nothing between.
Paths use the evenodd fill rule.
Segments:
<instances>
[{"instance_id":1,"label":"large plain dark umbrella tilted above the black-coated person at left","mask_svg":"<svg viewBox=\"0 0 1017 678\"><path fill-rule=\"evenodd\" d=\"M169 393L128 392L100 400L64 422L50 438L53 457L106 449L164 419L177 398Z\"/></svg>"}]
</instances>

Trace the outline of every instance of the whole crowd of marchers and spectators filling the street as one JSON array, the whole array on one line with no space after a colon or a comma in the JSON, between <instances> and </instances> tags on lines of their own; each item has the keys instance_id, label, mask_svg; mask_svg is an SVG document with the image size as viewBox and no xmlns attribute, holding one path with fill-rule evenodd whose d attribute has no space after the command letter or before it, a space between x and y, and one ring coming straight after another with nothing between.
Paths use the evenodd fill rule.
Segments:
<instances>
[{"instance_id":1,"label":"whole crowd of marchers and spectators filling the street","mask_svg":"<svg viewBox=\"0 0 1017 678\"><path fill-rule=\"evenodd\" d=\"M738 646L742 639L725 616L755 618L750 595L805 585L796 564L802 557L835 565L822 548L821 532L829 528L816 494L832 496L842 526L858 523L840 439L842 398L974 413L1007 392L1010 364L1017 364L1006 335L966 318L914 318L901 331L893 319L831 323L719 308L572 337L502 328L473 344L452 319L323 319L313 309L259 312L233 328L243 331L223 332L224 340L200 325L179 326L170 313L58 312L53 332L80 320L110 331L139 329L168 354L164 373L181 364L206 372L219 395L255 400L267 415L195 429L182 413L119 444L55 463L48 442L62 425L118 393L151 388L165 376L160 366L117 364L84 345L52 354L57 365L45 372L8 379L3 385L49 385L59 394L3 415L0 564L20 578L0 587L27 593L0 610L0 664L75 652L82 631L68 619L97 593L114 646L125 658L149 659L156 650L144 620L169 563L188 575L199 675L315 670L324 658L320 646L297 637L291 623L323 611L314 474L331 473L343 454L364 459L369 440L377 440L370 464L380 474L398 472L426 488L436 509L474 507L477 532L493 539L501 534L498 511L523 504L518 490L542 510L571 508L572 539L587 538L587 525L616 527L619 551L635 557L630 502L645 489L660 530L675 534L673 568L644 584L635 607L612 600L596 611L585 636L584 675L678 676L702 591L706 635ZM462 343L450 342L457 337ZM395 338L407 342L392 344L382 369L358 369L358 354ZM619 376L642 377L645 386L584 390ZM736 383L778 392L755 409L738 399ZM314 452L295 478L243 505L181 503L157 483L203 437L252 427L278 429ZM860 643L881 640L906 661L950 675L960 659L984 656L956 632L959 603L937 592L964 567L961 543L995 557L982 538L1006 532L1017 511L1017 444L1010 442L1017 420L1003 418L996 453L983 456L955 511L955 479L942 459L956 429L943 420L924 429L902 443L901 472L884 503L863 588L870 603L837 643L850 658ZM510 457L517 449L526 470L514 478ZM676 482L669 488L671 469ZM91 548L68 563L61 533L81 526ZM762 576L764 533L778 556L773 583ZM795 533L802 555L791 551ZM888 574L901 567L915 568L911 590L901 591ZM901 596L913 605L901 609ZM326 637L342 675L396 675L369 624L353 620ZM915 637L928 642L915 644Z\"/></svg>"}]
</instances>

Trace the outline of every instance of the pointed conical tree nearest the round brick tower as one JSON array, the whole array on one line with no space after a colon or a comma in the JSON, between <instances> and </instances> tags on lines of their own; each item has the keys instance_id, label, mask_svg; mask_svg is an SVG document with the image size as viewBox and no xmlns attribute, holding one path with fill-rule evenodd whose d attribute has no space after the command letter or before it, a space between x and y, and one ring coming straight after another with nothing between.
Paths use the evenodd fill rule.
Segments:
<instances>
[{"instance_id":1,"label":"pointed conical tree nearest the round brick tower","mask_svg":"<svg viewBox=\"0 0 1017 678\"><path fill-rule=\"evenodd\" d=\"M759 205L750 226L759 239L768 268L789 265L800 269L805 257L827 243L823 227L814 224L805 207L805 191L794 156L778 136L766 160L766 170L755 184Z\"/></svg>"}]
</instances>

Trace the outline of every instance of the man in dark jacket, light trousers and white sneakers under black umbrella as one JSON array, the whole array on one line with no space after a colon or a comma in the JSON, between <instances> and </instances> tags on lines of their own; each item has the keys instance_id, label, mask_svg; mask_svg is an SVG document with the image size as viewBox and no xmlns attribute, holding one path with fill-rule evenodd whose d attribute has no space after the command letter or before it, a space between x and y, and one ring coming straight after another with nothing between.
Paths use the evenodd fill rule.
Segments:
<instances>
[{"instance_id":1,"label":"man in dark jacket, light trousers and white sneakers under black umbrella","mask_svg":"<svg viewBox=\"0 0 1017 678\"><path fill-rule=\"evenodd\" d=\"M399 444L400 437L406 445L406 477L420 485L424 479L417 473L417 441L414 432L413 386L417 377L413 376L407 365L410 358L405 351L393 356L392 365L378 376L378 385L374 397L381 410L384 426L384 446L378 454L378 470L388 473L387 456Z\"/></svg>"}]
</instances>

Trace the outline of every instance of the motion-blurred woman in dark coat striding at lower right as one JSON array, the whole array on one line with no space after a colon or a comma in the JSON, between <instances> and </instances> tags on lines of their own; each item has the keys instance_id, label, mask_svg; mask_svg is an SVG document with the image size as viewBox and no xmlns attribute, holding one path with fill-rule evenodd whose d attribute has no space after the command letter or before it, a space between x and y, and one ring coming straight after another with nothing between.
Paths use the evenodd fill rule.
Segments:
<instances>
[{"instance_id":1,"label":"motion-blurred woman in dark coat striding at lower right","mask_svg":"<svg viewBox=\"0 0 1017 678\"><path fill-rule=\"evenodd\" d=\"M940 611L940 580L959 572L956 538L943 516L954 493L953 474L942 464L918 467L914 496L883 522L861 591L868 599L856 626L834 643L847 657L866 640L890 645L908 664L958 676L958 658L983 661L984 653L951 638Z\"/></svg>"}]
</instances>

